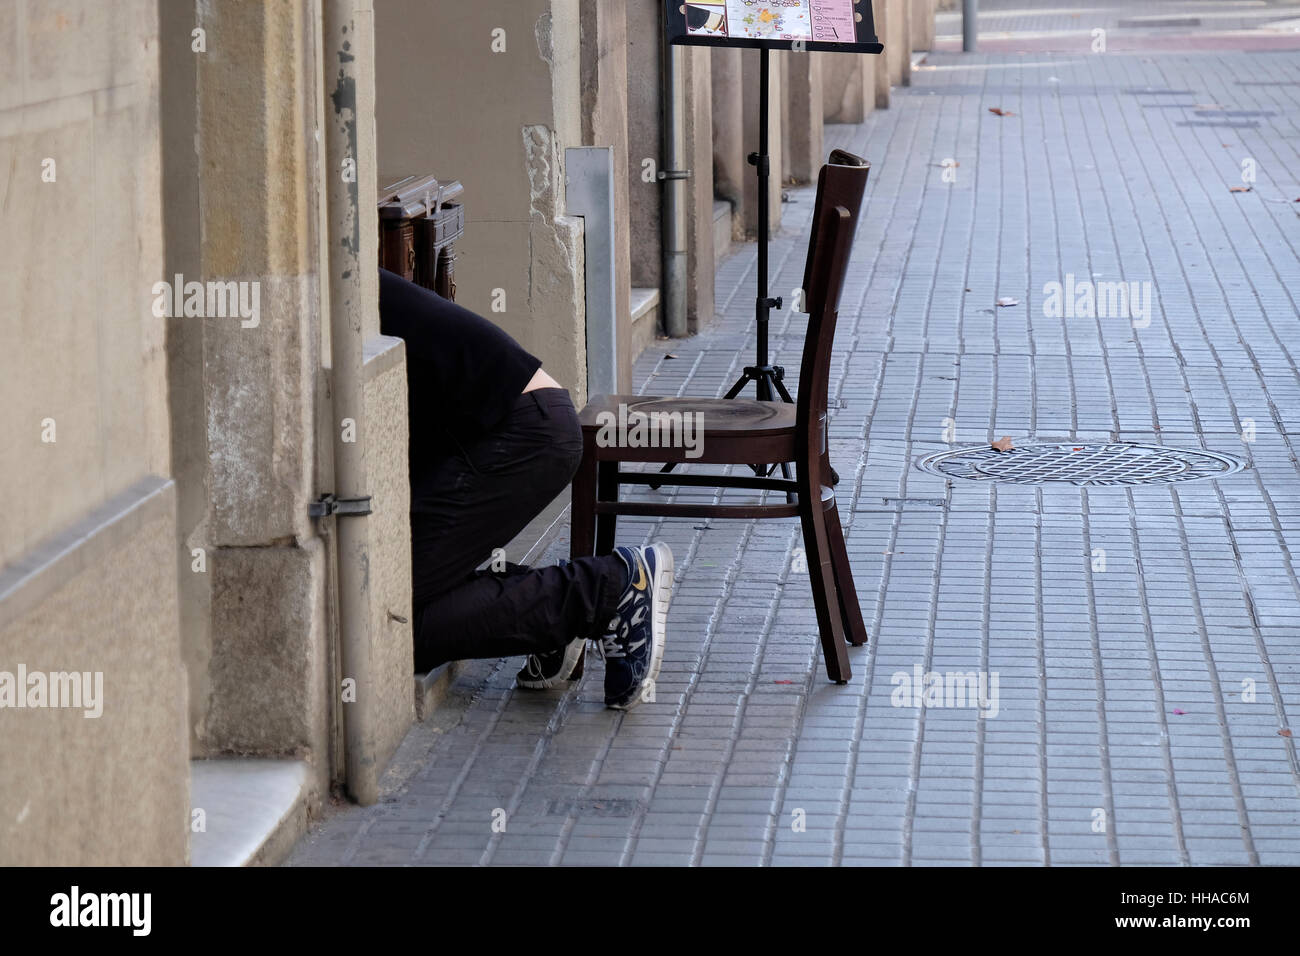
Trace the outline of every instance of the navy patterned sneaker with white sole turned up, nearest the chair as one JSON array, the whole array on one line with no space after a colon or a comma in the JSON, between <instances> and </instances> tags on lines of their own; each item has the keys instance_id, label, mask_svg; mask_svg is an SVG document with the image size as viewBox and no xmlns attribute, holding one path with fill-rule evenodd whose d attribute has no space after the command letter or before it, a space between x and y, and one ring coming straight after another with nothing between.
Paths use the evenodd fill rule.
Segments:
<instances>
[{"instance_id":1,"label":"navy patterned sneaker with white sole turned up, nearest the chair","mask_svg":"<svg viewBox=\"0 0 1300 956\"><path fill-rule=\"evenodd\" d=\"M628 710L641 701L645 685L663 663L668 602L672 600L672 551L656 541L647 548L616 548L628 566L628 585L619 597L608 632L601 639L604 658L604 705Z\"/></svg>"}]
</instances>

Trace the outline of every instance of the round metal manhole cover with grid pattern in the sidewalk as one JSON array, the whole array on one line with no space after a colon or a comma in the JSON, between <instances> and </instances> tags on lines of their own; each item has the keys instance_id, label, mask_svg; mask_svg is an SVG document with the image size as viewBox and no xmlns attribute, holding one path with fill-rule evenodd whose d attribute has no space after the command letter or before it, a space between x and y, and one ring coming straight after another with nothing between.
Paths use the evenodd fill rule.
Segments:
<instances>
[{"instance_id":1,"label":"round metal manhole cover with grid pattern in the sidewalk","mask_svg":"<svg viewBox=\"0 0 1300 956\"><path fill-rule=\"evenodd\" d=\"M1245 463L1217 451L1192 451L1132 441L1026 445L998 451L988 445L926 455L916 467L932 475L975 481L1041 485L1160 485L1223 477Z\"/></svg>"}]
</instances>

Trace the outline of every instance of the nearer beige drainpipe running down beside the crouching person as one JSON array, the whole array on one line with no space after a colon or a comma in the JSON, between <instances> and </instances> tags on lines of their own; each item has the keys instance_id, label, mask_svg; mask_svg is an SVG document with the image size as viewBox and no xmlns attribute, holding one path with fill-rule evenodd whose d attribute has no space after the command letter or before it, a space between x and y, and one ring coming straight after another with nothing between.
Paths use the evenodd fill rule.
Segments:
<instances>
[{"instance_id":1,"label":"nearer beige drainpipe running down beside the crouching person","mask_svg":"<svg viewBox=\"0 0 1300 956\"><path fill-rule=\"evenodd\" d=\"M321 26L325 55L325 207L328 230L328 287L330 367L333 386L334 496L367 497L364 329L361 271L361 209L358 176L350 182L339 170L358 163L356 121L356 0L322 0ZM348 163L350 161L350 163ZM364 173L363 173L364 174ZM351 428L344 421L351 420ZM343 680L355 682L355 698L344 702L347 790L359 804L378 799L378 767L369 654L369 535L364 514L338 515L338 618ZM341 693L339 687L332 693Z\"/></svg>"}]
</instances>

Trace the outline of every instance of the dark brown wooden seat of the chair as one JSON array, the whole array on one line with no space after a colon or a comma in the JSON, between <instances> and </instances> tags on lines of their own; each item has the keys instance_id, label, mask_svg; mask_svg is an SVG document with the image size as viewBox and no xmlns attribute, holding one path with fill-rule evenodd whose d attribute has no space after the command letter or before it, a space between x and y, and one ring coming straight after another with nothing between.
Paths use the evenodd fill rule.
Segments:
<instances>
[{"instance_id":1,"label":"dark brown wooden seat of the chair","mask_svg":"<svg viewBox=\"0 0 1300 956\"><path fill-rule=\"evenodd\" d=\"M750 398L597 395L578 415L598 459L762 464L794 460L796 406Z\"/></svg>"}]
</instances>

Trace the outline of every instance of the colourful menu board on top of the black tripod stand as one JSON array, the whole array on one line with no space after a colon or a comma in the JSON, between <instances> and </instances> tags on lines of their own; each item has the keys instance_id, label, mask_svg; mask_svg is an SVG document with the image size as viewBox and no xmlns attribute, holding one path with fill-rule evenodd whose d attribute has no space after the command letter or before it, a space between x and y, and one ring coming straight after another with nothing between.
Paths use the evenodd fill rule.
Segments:
<instances>
[{"instance_id":1,"label":"colourful menu board on top of the black tripod stand","mask_svg":"<svg viewBox=\"0 0 1300 956\"><path fill-rule=\"evenodd\" d=\"M879 53L870 0L667 0L673 43Z\"/></svg>"}]
</instances>

